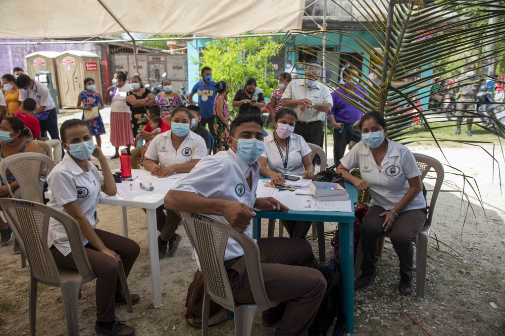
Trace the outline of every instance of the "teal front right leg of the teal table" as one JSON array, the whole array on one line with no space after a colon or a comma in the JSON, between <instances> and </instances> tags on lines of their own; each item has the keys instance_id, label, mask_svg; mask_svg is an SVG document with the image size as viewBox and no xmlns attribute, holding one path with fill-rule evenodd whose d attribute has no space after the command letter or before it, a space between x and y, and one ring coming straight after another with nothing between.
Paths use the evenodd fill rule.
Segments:
<instances>
[{"instance_id":1,"label":"teal front right leg of the teal table","mask_svg":"<svg viewBox=\"0 0 505 336\"><path fill-rule=\"evenodd\" d=\"M340 275L344 296L345 329L354 333L354 222L338 223Z\"/></svg>"}]
</instances>

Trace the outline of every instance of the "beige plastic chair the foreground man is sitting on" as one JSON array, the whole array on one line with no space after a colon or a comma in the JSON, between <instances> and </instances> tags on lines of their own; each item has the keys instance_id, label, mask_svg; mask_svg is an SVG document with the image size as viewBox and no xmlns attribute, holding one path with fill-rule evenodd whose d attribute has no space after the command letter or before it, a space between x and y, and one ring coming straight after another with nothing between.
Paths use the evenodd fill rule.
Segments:
<instances>
[{"instance_id":1,"label":"beige plastic chair the foreground man is sitting on","mask_svg":"<svg viewBox=\"0 0 505 336\"><path fill-rule=\"evenodd\" d=\"M205 294L202 307L201 334L206 336L209 324L210 300L214 300L235 314L235 334L251 333L252 320L257 313L275 307L279 302L270 301L265 290L258 245L247 235L238 233L231 225L215 218L194 213L181 213L182 224L191 245L196 250L204 275ZM224 266L226 243L233 237L243 248L247 274L255 302L236 304Z\"/></svg>"}]
</instances>

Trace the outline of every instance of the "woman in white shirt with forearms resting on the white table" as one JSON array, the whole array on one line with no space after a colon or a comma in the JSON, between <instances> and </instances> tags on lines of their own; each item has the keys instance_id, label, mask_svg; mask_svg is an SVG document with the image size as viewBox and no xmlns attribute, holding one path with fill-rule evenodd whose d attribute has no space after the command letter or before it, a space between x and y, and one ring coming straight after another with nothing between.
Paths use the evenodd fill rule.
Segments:
<instances>
[{"instance_id":1,"label":"woman in white shirt with forearms resting on the white table","mask_svg":"<svg viewBox=\"0 0 505 336\"><path fill-rule=\"evenodd\" d=\"M144 169L151 175L167 177L174 173L188 173L198 161L207 156L205 140L189 130L190 112L182 107L172 112L171 129L151 140L144 155ZM157 164L156 162L160 163ZM159 258L172 256L177 250L181 236L175 231L181 219L174 211L160 206L156 209ZM168 251L167 251L168 245Z\"/></svg>"}]
</instances>

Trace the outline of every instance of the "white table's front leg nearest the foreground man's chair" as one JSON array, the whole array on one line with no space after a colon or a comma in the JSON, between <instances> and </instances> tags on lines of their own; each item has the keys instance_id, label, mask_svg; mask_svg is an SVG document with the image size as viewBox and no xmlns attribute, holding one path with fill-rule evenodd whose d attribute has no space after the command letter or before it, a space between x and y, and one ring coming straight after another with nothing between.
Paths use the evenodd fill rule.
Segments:
<instances>
[{"instance_id":1,"label":"white table's front leg nearest the foreground man's chair","mask_svg":"<svg viewBox=\"0 0 505 336\"><path fill-rule=\"evenodd\" d=\"M155 308L163 305L161 300L160 259L158 258L158 230L156 228L156 209L146 209L147 240L151 259L151 281L153 282L153 304Z\"/></svg>"}]
</instances>

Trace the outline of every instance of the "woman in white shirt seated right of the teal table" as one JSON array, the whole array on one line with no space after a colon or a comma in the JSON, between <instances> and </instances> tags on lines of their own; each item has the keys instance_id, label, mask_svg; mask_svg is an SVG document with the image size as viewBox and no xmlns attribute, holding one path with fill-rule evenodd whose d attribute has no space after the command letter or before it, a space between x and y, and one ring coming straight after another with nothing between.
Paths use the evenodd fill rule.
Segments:
<instances>
[{"instance_id":1,"label":"woman in white shirt seated right of the teal table","mask_svg":"<svg viewBox=\"0 0 505 336\"><path fill-rule=\"evenodd\" d=\"M341 160L337 173L358 190L370 190L370 211L361 228L363 263L355 287L368 286L377 276L377 239L391 231L391 243L400 259L402 295L412 292L412 240L426 222L421 173L414 155L403 145L386 138L387 126L379 112L368 112L360 120L362 142ZM359 167L361 179L349 170Z\"/></svg>"}]
</instances>

